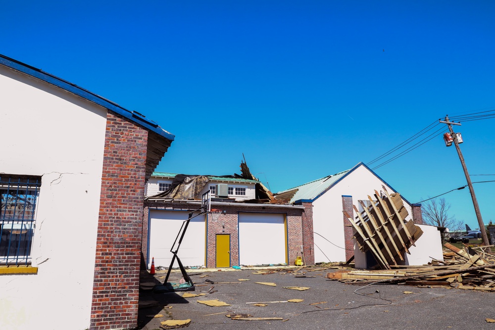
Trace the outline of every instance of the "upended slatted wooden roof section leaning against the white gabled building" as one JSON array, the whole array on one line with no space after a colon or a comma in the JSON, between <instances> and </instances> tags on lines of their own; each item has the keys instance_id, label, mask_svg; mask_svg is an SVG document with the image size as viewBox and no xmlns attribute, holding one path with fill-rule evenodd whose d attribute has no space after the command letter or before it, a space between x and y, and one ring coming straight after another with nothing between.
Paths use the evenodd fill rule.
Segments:
<instances>
[{"instance_id":1,"label":"upended slatted wooden roof section leaning against the white gabled building","mask_svg":"<svg viewBox=\"0 0 495 330\"><path fill-rule=\"evenodd\" d=\"M404 262L405 253L409 253L411 245L415 246L423 231L412 220L405 221L408 213L400 194L389 194L383 189L383 197L376 190L375 199L368 196L369 206L359 201L364 211L359 212L352 205L357 214L355 219L347 212L344 214L355 229L354 239L359 249L364 253L370 251L382 269L392 269L391 265Z\"/></svg>"}]
</instances>

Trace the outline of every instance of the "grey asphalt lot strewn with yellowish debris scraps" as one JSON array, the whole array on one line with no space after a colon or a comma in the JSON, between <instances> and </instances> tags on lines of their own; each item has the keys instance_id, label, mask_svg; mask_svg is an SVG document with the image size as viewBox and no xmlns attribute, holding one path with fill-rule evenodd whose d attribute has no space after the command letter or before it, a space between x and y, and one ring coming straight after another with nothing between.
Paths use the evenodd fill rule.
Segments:
<instances>
[{"instance_id":1,"label":"grey asphalt lot strewn with yellowish debris scraps","mask_svg":"<svg viewBox=\"0 0 495 330\"><path fill-rule=\"evenodd\" d=\"M495 319L494 292L386 284L357 286L327 280L325 275L332 272L331 269L311 271L314 268L308 268L292 273L287 270L291 272L287 268L268 275L253 274L254 270L191 273L196 283L196 291L191 293L205 293L198 297L183 298L180 296L182 293L141 291L140 329L159 329L160 322L167 319L191 319L188 329L202 330L495 329L495 323L486 321L487 318ZM156 274L154 278L163 282L160 277L164 275ZM169 282L180 277L180 273L172 273ZM255 282L275 283L276 286ZM309 289L284 288L288 286ZM209 307L198 303L198 300L211 299L231 306ZM289 299L303 301L285 302ZM252 302L265 302L266 306L248 304ZM145 307L147 304L151 307ZM233 320L225 316L229 313L282 320ZM164 316L147 317L156 314Z\"/></svg>"}]
</instances>

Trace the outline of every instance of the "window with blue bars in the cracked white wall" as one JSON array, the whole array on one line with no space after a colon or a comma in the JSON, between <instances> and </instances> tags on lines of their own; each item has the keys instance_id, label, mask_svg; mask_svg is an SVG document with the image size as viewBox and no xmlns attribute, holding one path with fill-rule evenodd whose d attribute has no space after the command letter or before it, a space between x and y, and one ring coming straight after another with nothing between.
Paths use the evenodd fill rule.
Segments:
<instances>
[{"instance_id":1,"label":"window with blue bars in the cracked white wall","mask_svg":"<svg viewBox=\"0 0 495 330\"><path fill-rule=\"evenodd\" d=\"M0 174L0 265L31 263L41 177Z\"/></svg>"}]
</instances>

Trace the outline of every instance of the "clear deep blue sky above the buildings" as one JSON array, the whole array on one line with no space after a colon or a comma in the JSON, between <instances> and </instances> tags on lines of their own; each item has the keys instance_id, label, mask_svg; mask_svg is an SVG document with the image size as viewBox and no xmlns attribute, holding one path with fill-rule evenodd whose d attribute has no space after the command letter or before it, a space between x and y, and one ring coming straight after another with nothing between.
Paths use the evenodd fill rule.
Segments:
<instances>
[{"instance_id":1,"label":"clear deep blue sky above the buildings","mask_svg":"<svg viewBox=\"0 0 495 330\"><path fill-rule=\"evenodd\" d=\"M244 153L273 191L495 109L495 2L304 2L3 1L0 53L176 135L158 171L239 173ZM494 123L455 127L473 175L495 174ZM466 184L441 137L376 173L410 202ZM475 184L485 223L494 188ZM478 228L468 189L444 197Z\"/></svg>"}]
</instances>

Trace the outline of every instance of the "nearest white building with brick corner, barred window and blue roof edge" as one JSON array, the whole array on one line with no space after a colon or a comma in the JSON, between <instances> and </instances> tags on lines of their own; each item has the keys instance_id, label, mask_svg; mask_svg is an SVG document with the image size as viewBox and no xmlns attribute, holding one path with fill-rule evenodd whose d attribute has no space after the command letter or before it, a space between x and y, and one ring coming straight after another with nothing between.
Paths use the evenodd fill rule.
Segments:
<instances>
[{"instance_id":1,"label":"nearest white building with brick corner, barred window and blue roof edge","mask_svg":"<svg viewBox=\"0 0 495 330\"><path fill-rule=\"evenodd\" d=\"M136 327L145 182L174 136L2 55L0 91L0 328Z\"/></svg>"}]
</instances>

